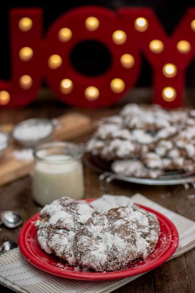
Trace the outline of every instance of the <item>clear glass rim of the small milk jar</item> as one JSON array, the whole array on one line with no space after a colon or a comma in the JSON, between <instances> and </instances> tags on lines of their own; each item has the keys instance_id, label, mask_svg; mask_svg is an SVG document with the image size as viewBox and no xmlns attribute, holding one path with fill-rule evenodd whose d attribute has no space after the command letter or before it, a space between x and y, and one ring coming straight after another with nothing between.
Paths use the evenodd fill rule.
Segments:
<instances>
[{"instance_id":1,"label":"clear glass rim of the small milk jar","mask_svg":"<svg viewBox=\"0 0 195 293\"><path fill-rule=\"evenodd\" d=\"M65 147L69 147L70 149L74 149L75 150L75 155L70 155L70 158L66 158L66 159L55 159L55 160L51 160L50 158L47 158L47 155L45 156L40 156L38 155L38 152L40 151L44 151L46 149L52 149L52 148L65 148ZM59 154L60 155L60 154ZM33 157L34 159L37 160L41 160L44 161L45 163L50 163L50 164L56 164L56 163L66 163L66 162L70 162L70 161L75 161L78 160L82 157L83 155L83 151L82 148L78 145L75 144L73 142L61 142L61 141L56 141L56 142L48 142L45 144L40 144L39 146L37 146L34 150L33 150Z\"/></svg>"}]
</instances>

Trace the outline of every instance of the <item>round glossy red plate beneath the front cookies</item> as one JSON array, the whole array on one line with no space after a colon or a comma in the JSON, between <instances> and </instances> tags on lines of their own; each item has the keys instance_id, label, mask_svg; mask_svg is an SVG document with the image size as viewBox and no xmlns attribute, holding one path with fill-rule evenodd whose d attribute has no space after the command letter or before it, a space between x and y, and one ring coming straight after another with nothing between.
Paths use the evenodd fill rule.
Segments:
<instances>
[{"instance_id":1,"label":"round glossy red plate beneath the front cookies","mask_svg":"<svg viewBox=\"0 0 195 293\"><path fill-rule=\"evenodd\" d=\"M87 200L87 202L93 200ZM155 251L153 251L149 257L144 260L135 260L123 270L106 273L94 272L91 270L84 271L82 269L77 270L74 266L66 265L54 255L49 255L42 251L37 240L37 229L34 226L34 222L39 219L39 213L30 218L22 227L18 237L19 249L23 256L37 268L53 275L70 279L111 280L148 272L162 265L171 257L178 246L179 235L174 224L164 215L148 207L139 206L146 211L156 214L161 227L161 236L159 237Z\"/></svg>"}]
</instances>

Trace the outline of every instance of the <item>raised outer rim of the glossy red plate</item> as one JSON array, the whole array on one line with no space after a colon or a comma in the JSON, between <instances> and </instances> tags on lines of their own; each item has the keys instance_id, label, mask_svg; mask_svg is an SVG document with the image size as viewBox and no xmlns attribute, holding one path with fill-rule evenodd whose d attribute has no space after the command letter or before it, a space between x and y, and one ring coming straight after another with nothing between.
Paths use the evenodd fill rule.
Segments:
<instances>
[{"instance_id":1,"label":"raised outer rim of the glossy red plate","mask_svg":"<svg viewBox=\"0 0 195 293\"><path fill-rule=\"evenodd\" d=\"M95 199L87 199L86 201L91 202L93 200L95 200ZM144 272L148 272L148 271L153 270L156 267L162 265L163 263L165 263L173 255L173 253L176 251L178 243L179 243L179 235L178 235L178 232L177 232L175 225L167 217L165 217L163 214L161 214L161 213L159 213L149 207L145 207L145 206L139 205L139 204L137 204L137 205L139 207L149 211L149 212L153 212L154 214L156 214L161 225L165 225L167 227L167 229L169 229L169 231L170 231L170 233L169 233L170 238L169 238L169 241L164 249L165 252L158 259L155 260L155 258L154 258L153 260L151 260L150 263L147 263L147 264L144 264L141 266L138 265L137 267L134 267L133 269L128 268L125 270L118 270L115 272L106 272L106 273L103 273L103 272L77 272L77 271L68 270L68 269L62 270L61 268L58 268L54 265L52 266L50 264L44 263L41 259L38 258L37 255L35 256L32 254L32 252L29 248L29 242L27 240L29 237L28 230L32 227L32 225L34 226L34 221L37 220L37 218L39 217L39 213L37 213L33 217L31 217L22 227L20 234L18 236L18 247L19 247L22 255L25 257L25 259L28 262L30 262L32 265L34 265L35 267L37 267L45 272L48 272L50 274L57 275L57 276L64 277L64 278L69 278L69 279L90 280L90 281L92 281L92 280L94 280L94 281L95 280L113 280L113 279L120 279L120 278L130 277L130 276L134 276L134 275L139 275ZM161 238L161 236L160 236L160 238ZM156 249L153 251L153 253L155 253L155 251L156 251Z\"/></svg>"}]
</instances>

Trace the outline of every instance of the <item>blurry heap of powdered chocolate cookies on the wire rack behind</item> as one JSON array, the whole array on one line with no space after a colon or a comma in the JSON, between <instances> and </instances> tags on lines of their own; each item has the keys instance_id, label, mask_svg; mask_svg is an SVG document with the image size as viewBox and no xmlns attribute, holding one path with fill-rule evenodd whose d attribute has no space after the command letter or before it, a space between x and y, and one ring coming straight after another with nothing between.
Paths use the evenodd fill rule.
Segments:
<instances>
[{"instance_id":1,"label":"blurry heap of powdered chocolate cookies on the wire rack behind","mask_svg":"<svg viewBox=\"0 0 195 293\"><path fill-rule=\"evenodd\" d=\"M195 110L126 105L103 117L87 152L110 161L115 173L158 178L166 171L195 172Z\"/></svg>"}]
</instances>

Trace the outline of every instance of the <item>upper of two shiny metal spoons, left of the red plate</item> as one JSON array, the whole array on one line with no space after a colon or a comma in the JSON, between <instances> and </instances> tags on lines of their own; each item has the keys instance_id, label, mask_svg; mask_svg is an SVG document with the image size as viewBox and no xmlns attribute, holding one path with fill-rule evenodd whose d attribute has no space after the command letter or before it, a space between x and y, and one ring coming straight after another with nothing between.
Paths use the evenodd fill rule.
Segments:
<instances>
[{"instance_id":1,"label":"upper of two shiny metal spoons, left of the red plate","mask_svg":"<svg viewBox=\"0 0 195 293\"><path fill-rule=\"evenodd\" d=\"M14 211L0 212L0 220L8 228L18 227L23 222L22 216L18 212Z\"/></svg>"}]
</instances>

